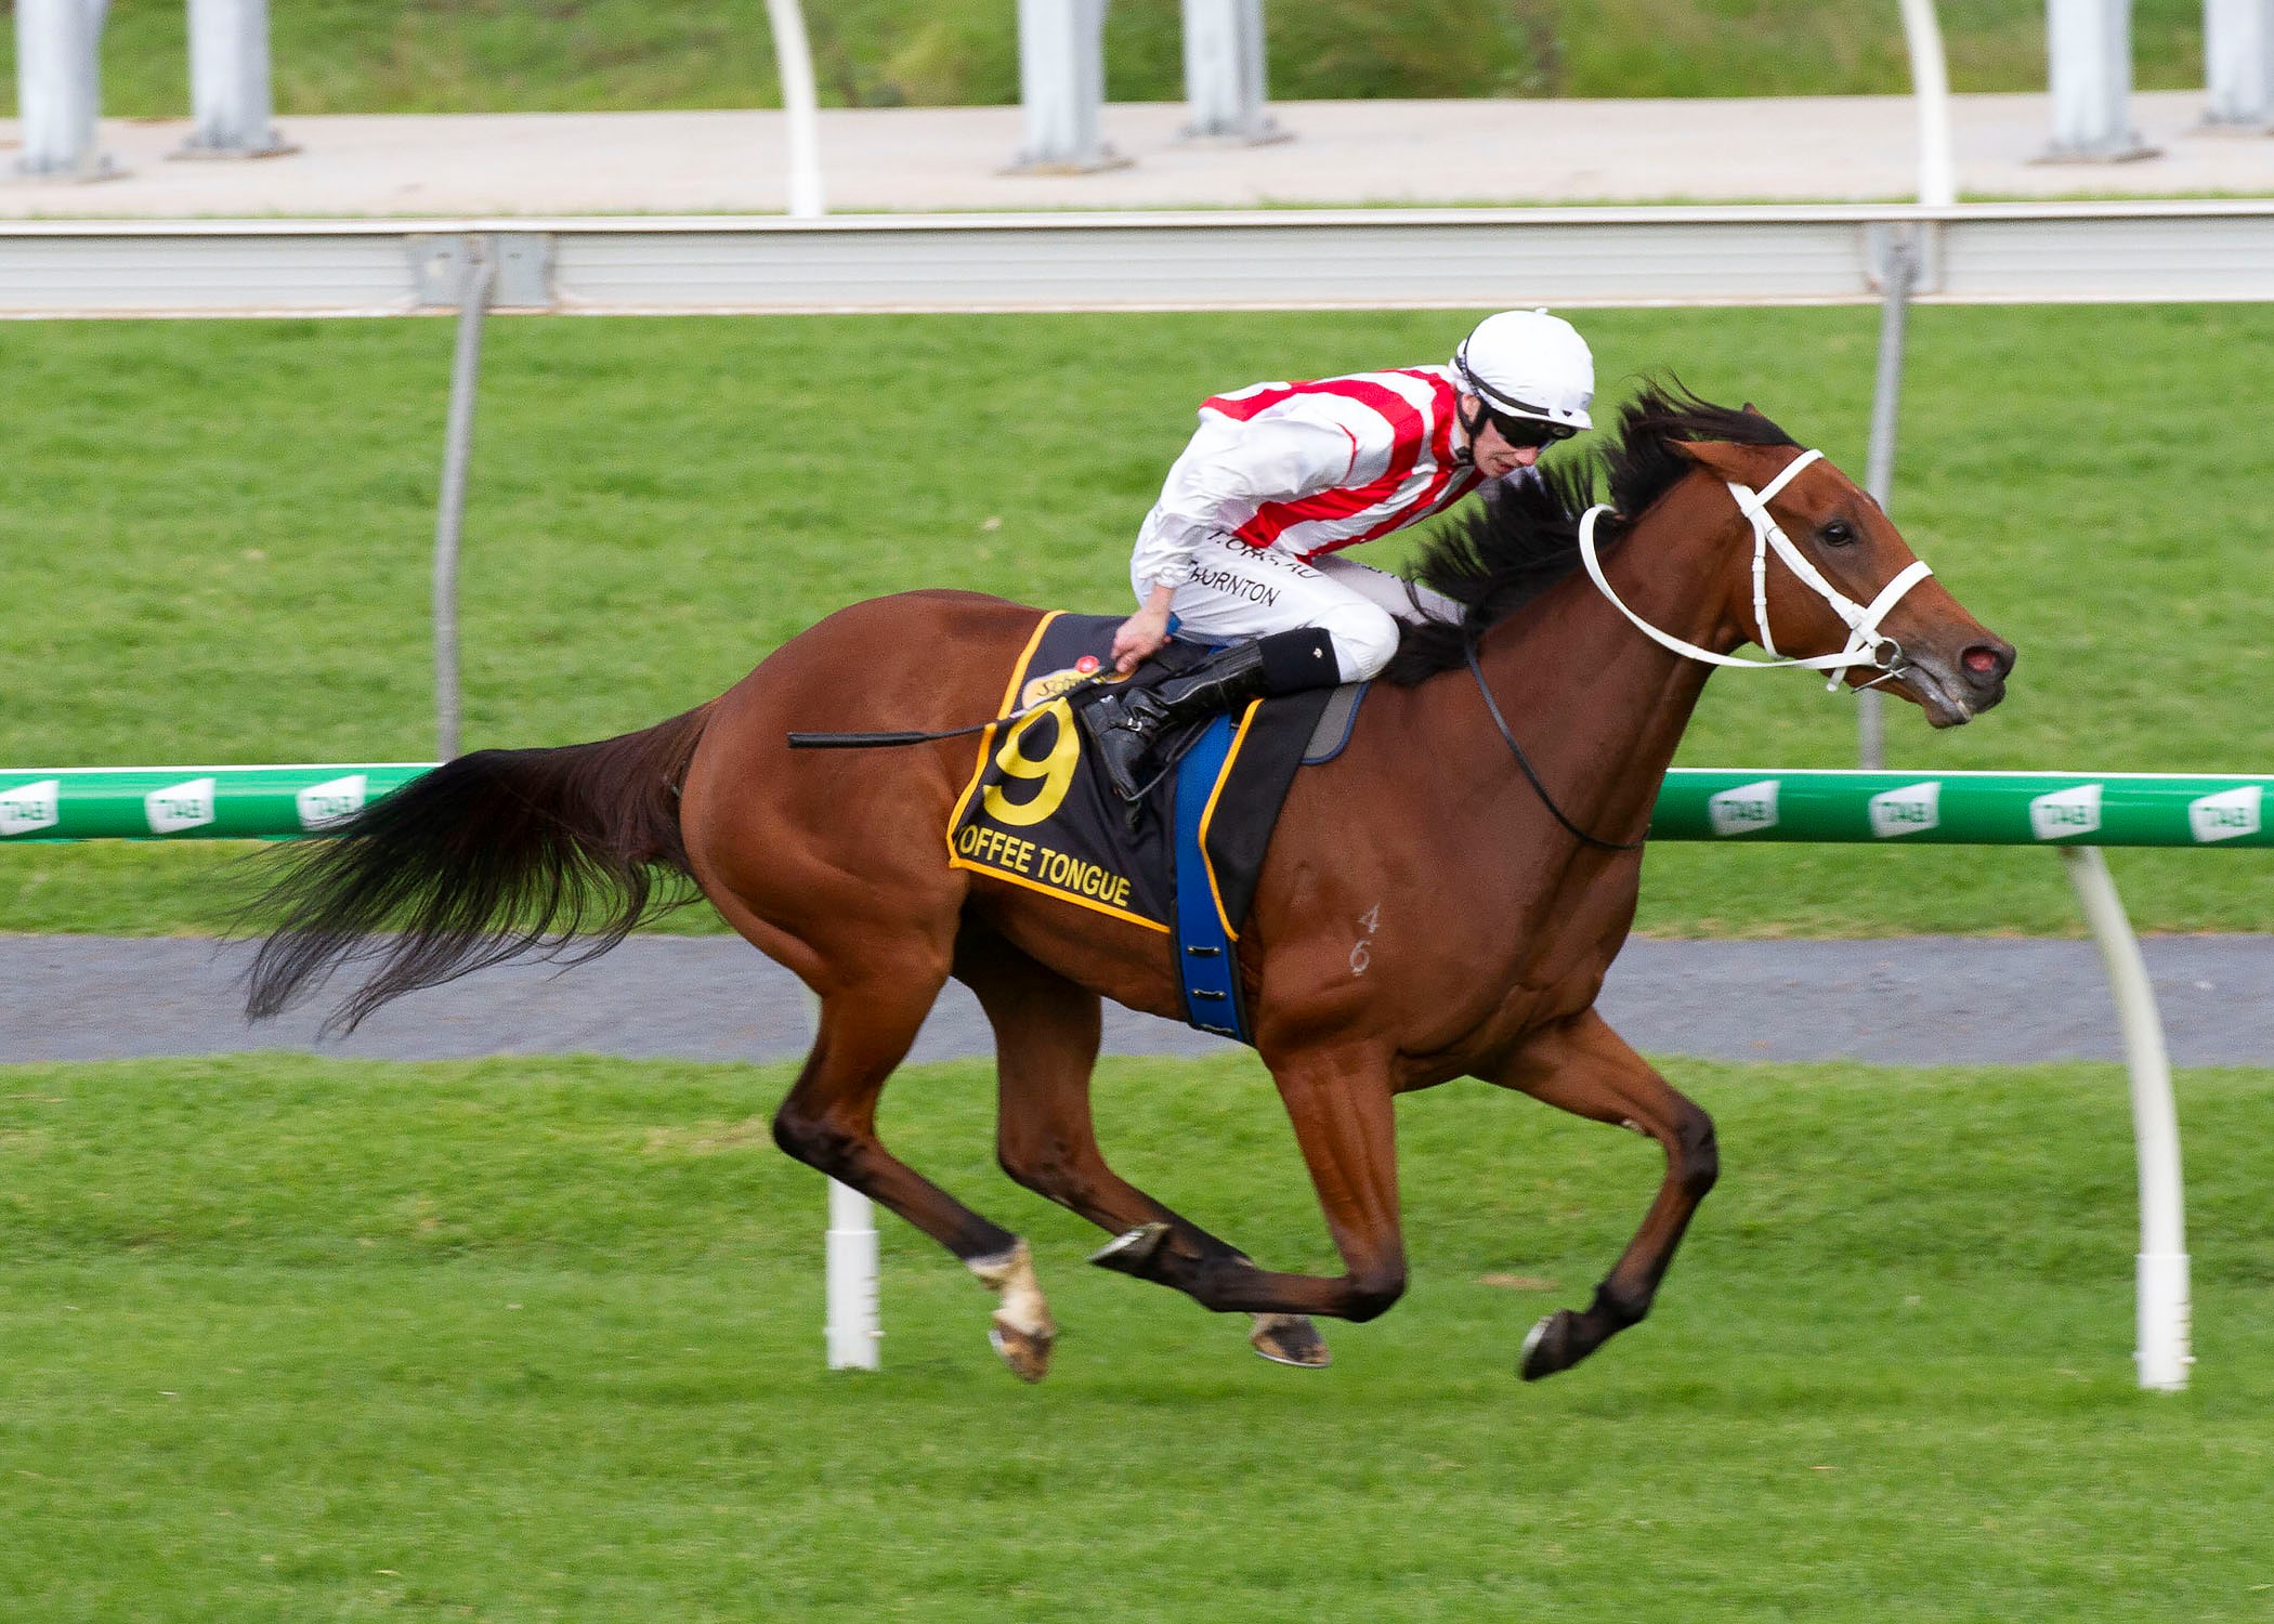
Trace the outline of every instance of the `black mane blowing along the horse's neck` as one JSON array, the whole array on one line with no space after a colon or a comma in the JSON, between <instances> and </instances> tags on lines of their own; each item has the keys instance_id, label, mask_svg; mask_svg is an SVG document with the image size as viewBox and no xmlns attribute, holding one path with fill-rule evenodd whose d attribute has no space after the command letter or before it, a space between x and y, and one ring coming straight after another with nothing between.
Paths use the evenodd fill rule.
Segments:
<instances>
[{"instance_id":1,"label":"black mane blowing along the horse's neck","mask_svg":"<svg viewBox=\"0 0 2274 1624\"><path fill-rule=\"evenodd\" d=\"M1458 625L1408 625L1385 682L1412 685L1462 664L1462 646L1578 569L1578 516L1608 487L1615 514L1596 523L1605 546L1694 466L1674 450L1685 439L1737 446L1794 446L1751 407L1699 400L1680 382L1649 382L1619 409L1617 444L1585 457L1558 457L1539 480L1489 487L1492 498L1439 530L1412 578L1467 607ZM1599 480L1601 475L1601 480Z\"/></svg>"}]
</instances>

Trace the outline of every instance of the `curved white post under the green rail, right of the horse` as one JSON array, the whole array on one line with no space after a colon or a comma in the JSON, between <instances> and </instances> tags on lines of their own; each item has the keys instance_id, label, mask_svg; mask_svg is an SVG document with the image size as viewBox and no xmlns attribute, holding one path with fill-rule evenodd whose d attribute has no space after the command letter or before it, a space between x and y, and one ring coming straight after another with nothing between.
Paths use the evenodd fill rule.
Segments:
<instances>
[{"instance_id":1,"label":"curved white post under the green rail, right of the horse","mask_svg":"<svg viewBox=\"0 0 2274 1624\"><path fill-rule=\"evenodd\" d=\"M2140 1385L2178 1392L2188 1385L2188 1217L2178 1178L2178 1108L2172 1101L2172 1055L2156 1012L2156 983L2147 976L2140 939L2124 917L2124 901L2108 878L2099 846L2063 846L2060 862L2092 926L2108 969L2108 989L2124 1028L2124 1067L2131 1074L2133 1144L2140 1158L2140 1256L2135 1265Z\"/></svg>"}]
</instances>

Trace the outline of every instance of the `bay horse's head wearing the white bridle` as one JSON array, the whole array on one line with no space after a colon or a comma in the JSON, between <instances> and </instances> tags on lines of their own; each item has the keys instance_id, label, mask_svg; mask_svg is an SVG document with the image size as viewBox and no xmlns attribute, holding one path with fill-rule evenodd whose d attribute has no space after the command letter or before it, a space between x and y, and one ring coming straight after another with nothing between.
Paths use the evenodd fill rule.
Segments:
<instances>
[{"instance_id":1,"label":"bay horse's head wearing the white bridle","mask_svg":"<svg viewBox=\"0 0 2274 1624\"><path fill-rule=\"evenodd\" d=\"M1728 487L1731 537L1749 544L1728 550L1726 625L1771 655L1824 662L1835 682L1892 687L1935 728L2006 698L2012 644L1976 621L1831 462L1794 446L1674 450Z\"/></svg>"}]
</instances>

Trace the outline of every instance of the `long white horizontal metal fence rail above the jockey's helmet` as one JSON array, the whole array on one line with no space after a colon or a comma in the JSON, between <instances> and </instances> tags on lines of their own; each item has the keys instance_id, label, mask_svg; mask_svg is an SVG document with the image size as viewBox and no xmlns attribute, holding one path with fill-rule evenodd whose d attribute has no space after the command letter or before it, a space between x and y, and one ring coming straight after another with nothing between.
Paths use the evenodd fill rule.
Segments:
<instances>
[{"instance_id":1,"label":"long white horizontal metal fence rail above the jockey's helmet","mask_svg":"<svg viewBox=\"0 0 2274 1624\"><path fill-rule=\"evenodd\" d=\"M2274 300L2274 200L16 221L0 318Z\"/></svg>"}]
</instances>

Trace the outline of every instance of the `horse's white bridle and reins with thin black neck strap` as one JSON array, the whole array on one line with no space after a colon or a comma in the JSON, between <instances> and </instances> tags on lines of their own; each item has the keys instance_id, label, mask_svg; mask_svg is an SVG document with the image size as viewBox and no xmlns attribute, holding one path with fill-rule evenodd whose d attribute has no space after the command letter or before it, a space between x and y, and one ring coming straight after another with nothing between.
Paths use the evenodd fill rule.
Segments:
<instances>
[{"instance_id":1,"label":"horse's white bridle and reins with thin black neck strap","mask_svg":"<svg viewBox=\"0 0 2274 1624\"><path fill-rule=\"evenodd\" d=\"M1862 687L1876 687L1887 678L1901 676L1910 664L1908 660L1903 660L1903 646L1892 637L1887 637L1885 632L1881 632L1878 623L1887 616L1887 610L1892 610L1897 603L1903 600L1906 591L1910 591L1922 580L1935 573L1926 566L1926 560L1915 557L1910 564L1899 569L1894 580L1881 587L1878 596L1874 596L1872 603L1856 603L1844 591L1824 580L1824 571L1810 564L1808 557L1801 555L1796 546L1792 546L1792 537L1787 537L1783 525L1778 525L1776 519L1769 514L1769 503L1776 498L1776 494L1783 491L1787 484L1792 484L1792 478L1801 469L1821 457L1824 457L1821 450L1803 450L1758 491L1737 484L1735 480L1724 480L1724 484L1728 484L1728 494L1737 498L1737 507L1753 525L1753 625L1760 630L1760 646L1769 651L1771 655L1769 660L1744 660L1740 655L1721 655L1715 653L1712 648L1699 648L1696 644L1687 644L1680 637L1674 637L1671 632L1658 630L1640 614L1628 610L1626 603L1619 598L1619 594L1610 589L1610 580L1603 578L1603 562L1594 553L1594 521L1612 512L1608 503L1596 503L1585 514L1580 514L1578 521L1578 555L1580 562L1587 564L1587 578L1596 585L1596 589L1601 589L1605 598L1612 600L1619 614L1633 621L1651 641L1660 644L1662 648L1671 648L1674 653L1685 655L1690 660L1703 660L1706 664L1715 666L1746 666L1749 671L1774 671L1781 666L1790 666L1796 671L1828 671L1831 676L1824 680L1826 691L1840 687L1840 673L1849 671L1851 666L1872 666L1874 671L1878 671L1878 676L1865 682ZM1785 660L1783 655L1776 653L1776 639L1769 635L1771 550L1781 560L1785 560L1785 566L1792 569L1794 575L1799 575L1810 589L1815 589L1819 598L1824 598L1824 603L1831 605L1833 614L1846 621L1849 641L1846 648L1842 648L1837 655ZM1549 794L1549 787L1539 782L1539 773L1535 773L1533 764L1524 757L1524 746L1517 744L1517 735L1510 730L1508 719L1501 714L1501 703L1492 698L1492 685L1485 682L1485 669L1476 662L1476 639L1474 637L1462 639L1460 651L1469 660L1469 676L1476 678L1476 691L1485 696L1485 710L1492 712L1492 726L1501 730L1501 741L1508 744L1508 751L1517 757L1517 767L1524 769L1524 778L1533 785L1533 792L1539 796L1539 803L1555 817L1555 821L1562 823L1565 830L1576 835L1580 844L1594 846L1599 851L1642 851L1644 846L1642 839L1633 842L1601 839L1583 830L1569 817L1565 817L1565 810L1555 805L1555 796Z\"/></svg>"}]
</instances>

